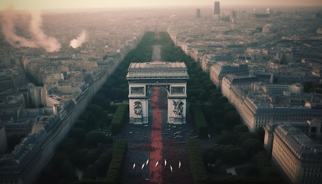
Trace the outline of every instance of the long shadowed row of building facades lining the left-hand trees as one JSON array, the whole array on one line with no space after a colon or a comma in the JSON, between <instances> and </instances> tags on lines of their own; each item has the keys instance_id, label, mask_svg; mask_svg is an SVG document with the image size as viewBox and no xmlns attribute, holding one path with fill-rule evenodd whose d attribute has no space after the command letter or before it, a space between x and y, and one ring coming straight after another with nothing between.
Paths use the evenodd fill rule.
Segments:
<instances>
[{"instance_id":1,"label":"long shadowed row of building facades lining the left-hand trees","mask_svg":"<svg viewBox=\"0 0 322 184\"><path fill-rule=\"evenodd\" d=\"M107 72L97 72L84 94L76 95L72 99L61 99L52 106L53 115L37 117L36 123L43 124L44 130L36 128L38 131L31 132L32 134L18 144L12 153L1 155L0 183L34 183L58 144L68 134L79 115L90 104L92 97L107 78ZM48 90L45 90L46 94ZM32 127L32 130L35 128Z\"/></svg>"}]
</instances>

